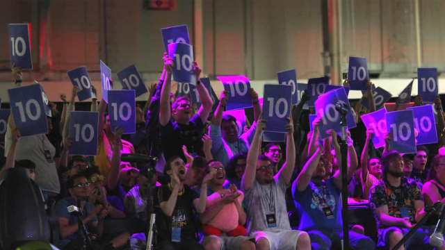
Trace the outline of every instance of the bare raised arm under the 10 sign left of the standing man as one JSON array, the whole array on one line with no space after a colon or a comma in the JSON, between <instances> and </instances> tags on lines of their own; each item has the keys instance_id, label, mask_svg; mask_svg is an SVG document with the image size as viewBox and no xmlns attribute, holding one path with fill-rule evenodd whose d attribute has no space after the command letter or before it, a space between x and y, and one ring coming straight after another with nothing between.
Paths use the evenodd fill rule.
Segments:
<instances>
[{"instance_id":1,"label":"bare raised arm under the 10 sign left of the standing man","mask_svg":"<svg viewBox=\"0 0 445 250\"><path fill-rule=\"evenodd\" d=\"M124 128L116 126L114 130L114 142L113 142L113 156L111 156L111 169L110 175L106 185L108 189L114 190L119 183L120 174L120 139L124 133Z\"/></svg>"}]
</instances>

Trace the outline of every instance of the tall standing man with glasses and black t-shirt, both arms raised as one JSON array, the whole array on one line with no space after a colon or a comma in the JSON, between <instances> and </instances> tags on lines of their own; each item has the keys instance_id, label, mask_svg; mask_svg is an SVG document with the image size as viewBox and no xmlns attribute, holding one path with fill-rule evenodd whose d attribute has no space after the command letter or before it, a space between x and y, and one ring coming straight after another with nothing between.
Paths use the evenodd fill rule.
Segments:
<instances>
[{"instance_id":1,"label":"tall standing man with glasses and black t-shirt, both arms raised","mask_svg":"<svg viewBox=\"0 0 445 250\"><path fill-rule=\"evenodd\" d=\"M186 160L184 152L182 151L182 146L184 145L187 147L188 153L193 157L196 155L204 156L204 151L202 150L202 131L204 122L207 121L213 105L209 92L200 81L197 81L196 90L202 106L193 117L192 106L188 97L179 97L170 108L172 67L175 66L172 58L165 56L164 66L165 81L161 90L159 112L164 157L168 160L172 156L179 156L183 160ZM201 69L196 62L193 62L193 66L196 79L199 79ZM173 113L174 122L171 119L170 113Z\"/></svg>"}]
</instances>

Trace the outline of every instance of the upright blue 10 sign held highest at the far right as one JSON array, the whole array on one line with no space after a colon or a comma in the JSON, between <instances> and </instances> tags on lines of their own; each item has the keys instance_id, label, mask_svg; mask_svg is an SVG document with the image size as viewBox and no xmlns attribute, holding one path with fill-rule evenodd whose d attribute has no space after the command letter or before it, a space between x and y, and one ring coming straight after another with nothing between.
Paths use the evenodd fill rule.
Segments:
<instances>
[{"instance_id":1,"label":"upright blue 10 sign held highest at the far right","mask_svg":"<svg viewBox=\"0 0 445 250\"><path fill-rule=\"evenodd\" d=\"M417 69L417 92L421 94L423 102L432 103L439 95L436 68Z\"/></svg>"}]
</instances>

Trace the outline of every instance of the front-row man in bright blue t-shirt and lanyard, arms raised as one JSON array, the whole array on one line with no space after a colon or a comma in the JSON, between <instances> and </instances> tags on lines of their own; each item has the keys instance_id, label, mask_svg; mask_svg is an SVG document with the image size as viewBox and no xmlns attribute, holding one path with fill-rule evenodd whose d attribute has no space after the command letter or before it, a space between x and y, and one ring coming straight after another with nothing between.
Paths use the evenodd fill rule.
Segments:
<instances>
[{"instance_id":1,"label":"front-row man in bright blue t-shirt and lanyard, arms raised","mask_svg":"<svg viewBox=\"0 0 445 250\"><path fill-rule=\"evenodd\" d=\"M321 118L316 118L313 122L314 134L309 142L309 157L305 160L304 167L296 181L292 185L293 199L296 207L301 208L300 227L301 231L309 234L312 249L327 250L334 244L341 244L343 239L343 220L341 217L341 169L337 170L331 178L325 178L325 163L321 159L323 147L320 144ZM327 131L332 137L332 144L337 151L337 160L341 165L341 155L337 142L337 133ZM352 143L348 146L350 158L355 156L355 149ZM355 156L357 158L357 156ZM348 165L348 177L353 175L353 169L357 166L357 159L350 159ZM346 190L345 190L346 191ZM351 249L374 249L374 242L371 238L356 233L349 232L349 244Z\"/></svg>"}]
</instances>

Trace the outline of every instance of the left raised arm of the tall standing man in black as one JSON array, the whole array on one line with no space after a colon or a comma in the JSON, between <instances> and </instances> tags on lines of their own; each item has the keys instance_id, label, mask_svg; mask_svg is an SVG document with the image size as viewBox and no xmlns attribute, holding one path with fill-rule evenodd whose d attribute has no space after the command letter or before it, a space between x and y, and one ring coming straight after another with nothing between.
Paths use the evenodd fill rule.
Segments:
<instances>
[{"instance_id":1,"label":"left raised arm of the tall standing man in black","mask_svg":"<svg viewBox=\"0 0 445 250\"><path fill-rule=\"evenodd\" d=\"M170 93L172 92L172 67L175 66L172 58L169 58L168 55L163 57L164 59L164 69L165 69L165 80L162 85L161 90L161 103L160 103L160 111L159 111L159 123L161 126L165 126L170 121Z\"/></svg>"}]
</instances>

